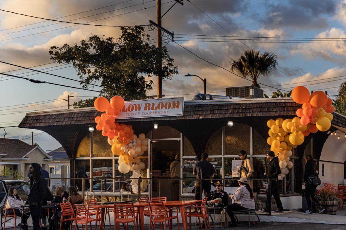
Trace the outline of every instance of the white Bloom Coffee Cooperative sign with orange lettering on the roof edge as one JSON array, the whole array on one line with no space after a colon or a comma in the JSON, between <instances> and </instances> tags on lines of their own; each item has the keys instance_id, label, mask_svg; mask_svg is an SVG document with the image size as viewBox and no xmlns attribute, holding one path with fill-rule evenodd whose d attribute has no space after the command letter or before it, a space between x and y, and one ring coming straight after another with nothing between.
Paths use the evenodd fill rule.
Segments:
<instances>
[{"instance_id":1,"label":"white Bloom Coffee Cooperative sign with orange lettering on the roof edge","mask_svg":"<svg viewBox=\"0 0 346 230\"><path fill-rule=\"evenodd\" d=\"M125 106L116 119L182 116L184 98L161 98L125 101Z\"/></svg>"}]
</instances>

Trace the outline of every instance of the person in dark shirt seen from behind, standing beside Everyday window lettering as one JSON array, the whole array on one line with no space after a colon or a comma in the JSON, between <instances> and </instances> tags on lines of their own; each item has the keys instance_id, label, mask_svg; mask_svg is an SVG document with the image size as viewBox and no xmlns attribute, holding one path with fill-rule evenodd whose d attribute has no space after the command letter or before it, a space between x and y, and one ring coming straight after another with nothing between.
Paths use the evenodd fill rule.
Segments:
<instances>
[{"instance_id":1,"label":"person in dark shirt seen from behind, standing beside Everyday window lettering","mask_svg":"<svg viewBox=\"0 0 346 230\"><path fill-rule=\"evenodd\" d=\"M202 153L202 160L197 161L193 166L193 175L196 175L196 186L195 186L195 200L201 200L201 194L200 194L200 186L202 186L202 191L204 192L204 196L208 197L210 190L211 190L211 184L210 179L211 175L215 173L214 166L208 161L208 153ZM202 184L200 184L199 179L209 179L209 180L202 180Z\"/></svg>"}]
</instances>

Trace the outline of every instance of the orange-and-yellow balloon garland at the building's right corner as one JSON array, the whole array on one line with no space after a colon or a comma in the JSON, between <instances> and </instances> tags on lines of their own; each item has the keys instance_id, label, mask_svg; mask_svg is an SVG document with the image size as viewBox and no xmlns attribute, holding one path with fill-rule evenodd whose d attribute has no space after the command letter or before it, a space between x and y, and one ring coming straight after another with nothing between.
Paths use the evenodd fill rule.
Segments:
<instances>
[{"instance_id":1,"label":"orange-and-yellow balloon garland at the building's right corner","mask_svg":"<svg viewBox=\"0 0 346 230\"><path fill-rule=\"evenodd\" d=\"M290 161L292 148L302 144L304 138L310 133L329 130L333 120L332 113L335 110L331 105L333 101L325 92L315 91L310 95L306 87L297 86L292 90L291 95L293 101L302 104L302 108L296 111L297 117L267 121L267 126L270 128L267 143L271 146L270 150L279 158L281 168L281 174L277 177L279 180L282 180L293 167Z\"/></svg>"}]
</instances>

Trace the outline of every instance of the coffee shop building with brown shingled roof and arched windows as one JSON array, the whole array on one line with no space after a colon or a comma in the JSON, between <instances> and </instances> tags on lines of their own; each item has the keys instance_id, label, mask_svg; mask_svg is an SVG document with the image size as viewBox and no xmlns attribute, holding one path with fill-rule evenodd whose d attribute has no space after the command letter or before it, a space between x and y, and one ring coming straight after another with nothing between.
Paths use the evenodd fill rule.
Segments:
<instances>
[{"instance_id":1,"label":"coffee shop building with brown shingled roof and arched windows","mask_svg":"<svg viewBox=\"0 0 346 230\"><path fill-rule=\"evenodd\" d=\"M221 100L217 100L217 99ZM201 154L209 154L209 161L215 166L218 176L226 178L225 187L232 186L232 161L239 160L238 153L245 150L248 157L267 165L266 153L269 147L268 119L293 118L300 107L291 98L218 98L196 97L197 100L180 101L181 114L153 117L118 118L119 123L131 124L135 134L144 133L150 139L148 150L140 156L146 163L144 175L157 180L149 181L148 189L142 196L171 196L167 164L176 155L181 161L181 199L193 199L193 164L201 159ZM212 100L207 100L212 99ZM159 100L143 100L143 103L156 103ZM128 182L121 177L129 177L117 170L118 156L111 152L107 137L101 131L90 132L95 128L94 118L100 112L91 108L56 110L27 113L20 123L21 128L38 129L47 132L62 144L70 159L71 178L75 168L83 168L93 179L88 195L107 196L108 200L120 196L121 183ZM322 183L342 184L345 179L346 159L346 117L333 113L332 126L327 132L311 133L303 144L292 149L293 167L280 181L280 194L285 209L300 209L302 199L303 157L311 154L318 162ZM336 133L336 135L334 134ZM168 163L167 163L168 162ZM131 172L131 171L130 171ZM149 174L147 174L149 173ZM149 176L148 176L149 175ZM110 179L102 191L97 188L100 180ZM120 182L119 182L120 181ZM112 183L111 183L112 182ZM71 180L71 183L72 180ZM131 186L130 186L131 187ZM267 184L263 183L260 197L265 197ZM137 196L136 194L133 194ZM129 195L131 196L131 195Z\"/></svg>"}]
</instances>

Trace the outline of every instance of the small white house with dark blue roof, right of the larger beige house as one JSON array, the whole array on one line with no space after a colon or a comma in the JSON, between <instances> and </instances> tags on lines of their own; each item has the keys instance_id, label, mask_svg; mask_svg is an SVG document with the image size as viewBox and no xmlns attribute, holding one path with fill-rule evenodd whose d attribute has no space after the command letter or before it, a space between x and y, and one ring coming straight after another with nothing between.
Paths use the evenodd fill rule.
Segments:
<instances>
[{"instance_id":1,"label":"small white house with dark blue roof, right of the larger beige house","mask_svg":"<svg viewBox=\"0 0 346 230\"><path fill-rule=\"evenodd\" d=\"M52 160L49 161L50 178L70 178L70 159L63 147L48 153Z\"/></svg>"}]
</instances>

